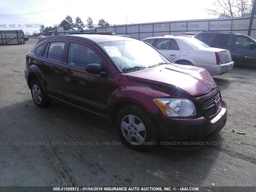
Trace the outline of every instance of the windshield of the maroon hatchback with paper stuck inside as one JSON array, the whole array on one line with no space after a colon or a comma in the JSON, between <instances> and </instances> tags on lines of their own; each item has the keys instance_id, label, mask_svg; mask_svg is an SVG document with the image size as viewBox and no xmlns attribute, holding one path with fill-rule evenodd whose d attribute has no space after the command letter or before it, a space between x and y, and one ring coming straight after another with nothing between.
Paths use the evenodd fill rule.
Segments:
<instances>
[{"instance_id":1,"label":"windshield of the maroon hatchback with paper stuck inside","mask_svg":"<svg viewBox=\"0 0 256 192\"><path fill-rule=\"evenodd\" d=\"M141 41L111 41L99 44L121 70L148 68L162 63L171 63L154 48Z\"/></svg>"}]
</instances>

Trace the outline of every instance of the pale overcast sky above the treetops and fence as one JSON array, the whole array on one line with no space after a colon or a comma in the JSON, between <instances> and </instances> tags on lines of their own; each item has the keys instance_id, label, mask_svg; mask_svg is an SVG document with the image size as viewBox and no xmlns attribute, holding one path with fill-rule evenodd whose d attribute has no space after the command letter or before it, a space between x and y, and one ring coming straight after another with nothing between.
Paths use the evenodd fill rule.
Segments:
<instances>
[{"instance_id":1,"label":"pale overcast sky above the treetops and fence","mask_svg":"<svg viewBox=\"0 0 256 192\"><path fill-rule=\"evenodd\" d=\"M109 24L209 19L205 10L214 0L5 0L0 4L0 30L18 30L32 34L35 24L60 24L69 15L79 16L84 24L91 17L94 24L103 18ZM12 25L12 27L10 27ZM14 26L15 25L15 26ZM32 27L33 26L33 27Z\"/></svg>"}]
</instances>

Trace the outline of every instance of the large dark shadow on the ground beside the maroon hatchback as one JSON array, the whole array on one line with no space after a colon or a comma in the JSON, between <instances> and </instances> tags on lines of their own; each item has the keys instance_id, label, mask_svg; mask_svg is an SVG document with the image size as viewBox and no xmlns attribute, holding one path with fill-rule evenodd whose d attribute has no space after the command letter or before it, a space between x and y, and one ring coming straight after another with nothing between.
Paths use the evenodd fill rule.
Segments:
<instances>
[{"instance_id":1,"label":"large dark shadow on the ground beside the maroon hatchback","mask_svg":"<svg viewBox=\"0 0 256 192\"><path fill-rule=\"evenodd\" d=\"M13 182L19 173L22 173L20 182L24 186L70 186L71 182L79 186L86 185L88 180L92 186L102 183L111 186L200 186L209 182L222 140L217 134L212 139L216 144L197 150L172 150L158 145L151 151L138 152L120 144L115 128L108 121L57 102L52 102L49 108L38 108L32 99L0 108L0 121L2 144L55 142L49 146L28 144L6 148L1 145L2 160L7 162L15 153L14 165L20 166L7 173L10 175L1 177L0 185L5 186L15 186ZM78 143L64 146L65 141ZM28 154L30 158L26 158ZM44 165L41 169L36 166L37 158ZM34 173L32 165L37 172ZM50 177L47 172L51 173ZM34 180L29 175L33 175ZM5 179L10 177L13 180ZM38 178L44 182L38 183Z\"/></svg>"}]
</instances>

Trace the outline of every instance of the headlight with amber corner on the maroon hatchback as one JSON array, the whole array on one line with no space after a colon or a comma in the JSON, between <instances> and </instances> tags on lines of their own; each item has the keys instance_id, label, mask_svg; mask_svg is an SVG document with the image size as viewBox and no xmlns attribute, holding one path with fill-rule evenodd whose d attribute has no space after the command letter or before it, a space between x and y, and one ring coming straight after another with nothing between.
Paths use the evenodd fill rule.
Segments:
<instances>
[{"instance_id":1,"label":"headlight with amber corner on the maroon hatchback","mask_svg":"<svg viewBox=\"0 0 256 192\"><path fill-rule=\"evenodd\" d=\"M165 116L196 116L196 108L193 102L188 99L155 98L153 101L158 105Z\"/></svg>"}]
</instances>

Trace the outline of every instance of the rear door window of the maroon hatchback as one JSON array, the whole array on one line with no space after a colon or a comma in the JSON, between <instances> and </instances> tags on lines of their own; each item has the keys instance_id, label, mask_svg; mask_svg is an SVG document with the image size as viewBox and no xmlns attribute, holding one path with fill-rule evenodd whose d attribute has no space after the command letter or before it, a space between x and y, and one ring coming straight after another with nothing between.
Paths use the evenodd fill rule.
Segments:
<instances>
[{"instance_id":1,"label":"rear door window of the maroon hatchback","mask_svg":"<svg viewBox=\"0 0 256 192\"><path fill-rule=\"evenodd\" d=\"M47 58L61 62L65 42L51 42Z\"/></svg>"}]
</instances>

